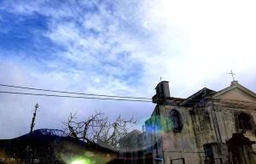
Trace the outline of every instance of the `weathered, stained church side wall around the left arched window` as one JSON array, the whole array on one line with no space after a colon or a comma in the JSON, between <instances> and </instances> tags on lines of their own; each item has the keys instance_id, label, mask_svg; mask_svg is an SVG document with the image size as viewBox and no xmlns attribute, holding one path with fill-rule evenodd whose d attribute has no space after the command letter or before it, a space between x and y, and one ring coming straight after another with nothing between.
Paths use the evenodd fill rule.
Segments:
<instances>
[{"instance_id":1,"label":"weathered, stained church side wall around the left arched window","mask_svg":"<svg viewBox=\"0 0 256 164\"><path fill-rule=\"evenodd\" d=\"M169 112L178 110L182 116L183 129L172 132L166 129L166 121L170 121ZM204 160L203 144L216 142L211 116L207 108L160 106L162 127L162 143L166 163L172 159L183 157L186 163L201 163Z\"/></svg>"}]
</instances>

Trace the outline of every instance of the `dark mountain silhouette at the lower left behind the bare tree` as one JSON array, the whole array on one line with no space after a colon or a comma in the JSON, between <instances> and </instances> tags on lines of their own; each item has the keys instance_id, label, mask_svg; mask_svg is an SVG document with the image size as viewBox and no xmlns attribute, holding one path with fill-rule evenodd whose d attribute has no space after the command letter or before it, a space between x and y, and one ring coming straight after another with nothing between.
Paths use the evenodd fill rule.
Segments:
<instances>
[{"instance_id":1,"label":"dark mountain silhouette at the lower left behind the bare tree","mask_svg":"<svg viewBox=\"0 0 256 164\"><path fill-rule=\"evenodd\" d=\"M0 140L0 164L14 161L64 164L72 163L77 156L106 163L116 158L118 153L92 142L74 139L58 129L38 129L15 139Z\"/></svg>"}]
</instances>

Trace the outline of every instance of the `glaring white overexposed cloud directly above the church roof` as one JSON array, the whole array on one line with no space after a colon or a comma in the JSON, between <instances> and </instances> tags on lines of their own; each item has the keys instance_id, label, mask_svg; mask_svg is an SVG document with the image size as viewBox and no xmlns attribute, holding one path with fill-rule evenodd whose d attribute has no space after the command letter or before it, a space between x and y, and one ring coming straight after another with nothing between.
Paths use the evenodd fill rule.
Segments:
<instances>
[{"instance_id":1,"label":"glaring white overexposed cloud directly above the church roof","mask_svg":"<svg viewBox=\"0 0 256 164\"><path fill-rule=\"evenodd\" d=\"M175 93L181 96L202 88L197 84L204 81L229 82L230 69L238 80L247 81L239 77L256 70L255 6L253 1L145 1L141 21L160 49L160 59L154 61L162 69L156 74L179 88ZM163 75L163 70L168 73ZM223 73L226 79L216 78Z\"/></svg>"}]
</instances>

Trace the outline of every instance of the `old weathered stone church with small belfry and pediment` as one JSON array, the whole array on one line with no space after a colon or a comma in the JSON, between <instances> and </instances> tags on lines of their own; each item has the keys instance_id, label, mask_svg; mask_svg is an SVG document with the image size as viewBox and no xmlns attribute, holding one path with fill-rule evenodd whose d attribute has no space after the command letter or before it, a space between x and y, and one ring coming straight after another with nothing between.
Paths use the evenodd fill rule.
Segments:
<instances>
[{"instance_id":1,"label":"old weathered stone church with small belfry and pediment","mask_svg":"<svg viewBox=\"0 0 256 164\"><path fill-rule=\"evenodd\" d=\"M155 88L146 163L256 164L256 94L233 81L218 92L202 88L187 99L171 97L168 82ZM144 143L144 145L150 145Z\"/></svg>"}]
</instances>

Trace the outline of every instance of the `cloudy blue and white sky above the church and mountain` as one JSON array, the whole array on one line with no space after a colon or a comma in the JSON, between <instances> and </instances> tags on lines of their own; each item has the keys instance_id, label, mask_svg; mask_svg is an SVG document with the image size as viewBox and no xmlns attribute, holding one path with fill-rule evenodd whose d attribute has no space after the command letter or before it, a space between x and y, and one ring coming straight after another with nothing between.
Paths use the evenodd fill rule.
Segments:
<instances>
[{"instance_id":1,"label":"cloudy blue and white sky above the church and mountain","mask_svg":"<svg viewBox=\"0 0 256 164\"><path fill-rule=\"evenodd\" d=\"M237 0L0 0L0 83L151 98L168 81L172 97L241 85L256 91L256 3ZM1 91L22 91L3 88ZM147 102L0 93L0 139L58 128L70 112L109 119L154 110Z\"/></svg>"}]
</instances>

